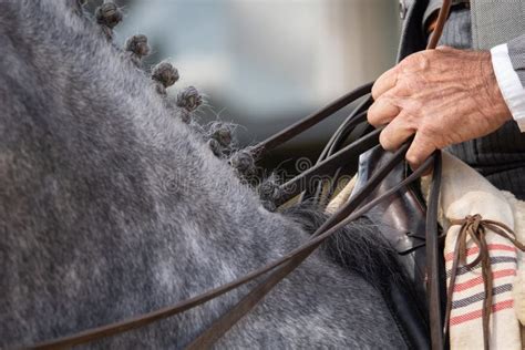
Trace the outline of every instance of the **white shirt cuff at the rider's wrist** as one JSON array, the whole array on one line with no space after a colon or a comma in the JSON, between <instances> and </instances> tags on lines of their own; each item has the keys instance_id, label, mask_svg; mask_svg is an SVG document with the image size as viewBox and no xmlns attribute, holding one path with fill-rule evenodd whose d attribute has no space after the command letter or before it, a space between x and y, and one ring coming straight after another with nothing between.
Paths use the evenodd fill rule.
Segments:
<instances>
[{"instance_id":1,"label":"white shirt cuff at the rider's wrist","mask_svg":"<svg viewBox=\"0 0 525 350\"><path fill-rule=\"evenodd\" d=\"M513 119L523 133L525 132L525 89L512 65L507 44L505 43L493 48L491 54L492 65L503 99L505 99Z\"/></svg>"}]
</instances>

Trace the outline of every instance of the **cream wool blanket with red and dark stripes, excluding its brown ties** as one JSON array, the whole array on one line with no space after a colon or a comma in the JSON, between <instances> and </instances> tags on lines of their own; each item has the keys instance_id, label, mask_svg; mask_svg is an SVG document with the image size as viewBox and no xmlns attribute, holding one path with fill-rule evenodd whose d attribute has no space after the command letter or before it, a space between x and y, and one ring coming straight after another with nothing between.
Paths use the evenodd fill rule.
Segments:
<instances>
[{"instance_id":1,"label":"cream wool blanket with red and dark stripes, excluding its brown ties","mask_svg":"<svg viewBox=\"0 0 525 350\"><path fill-rule=\"evenodd\" d=\"M467 215L481 215L516 228L515 205L478 173L450 154L443 153L443 177L441 209L443 226L452 219L463 219ZM452 269L453 249L460 226L450 226L445 238L444 258L447 284ZM519 237L518 237L519 238ZM490 323L491 349L522 349L521 325L516 316L513 296L518 271L517 249L507 239L487 229L486 241L493 274L493 305ZM478 249L467 241L467 262L477 256ZM459 267L452 296L450 319L451 349L483 349L482 308L484 284L481 266L471 270ZM519 302L518 302L519 303Z\"/></svg>"}]
</instances>

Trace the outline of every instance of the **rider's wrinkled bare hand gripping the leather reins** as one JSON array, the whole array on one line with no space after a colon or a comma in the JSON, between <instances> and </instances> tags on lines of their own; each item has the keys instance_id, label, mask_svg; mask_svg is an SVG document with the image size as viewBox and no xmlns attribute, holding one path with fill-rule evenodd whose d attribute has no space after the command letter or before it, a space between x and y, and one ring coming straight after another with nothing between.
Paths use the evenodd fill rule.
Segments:
<instances>
[{"instance_id":1,"label":"rider's wrinkled bare hand gripping the leather reins","mask_svg":"<svg viewBox=\"0 0 525 350\"><path fill-rule=\"evenodd\" d=\"M368 112L383 148L399 148L411 135L406 161L416 168L436 148L496 131L512 117L488 51L451 48L408 56L379 78Z\"/></svg>"}]
</instances>

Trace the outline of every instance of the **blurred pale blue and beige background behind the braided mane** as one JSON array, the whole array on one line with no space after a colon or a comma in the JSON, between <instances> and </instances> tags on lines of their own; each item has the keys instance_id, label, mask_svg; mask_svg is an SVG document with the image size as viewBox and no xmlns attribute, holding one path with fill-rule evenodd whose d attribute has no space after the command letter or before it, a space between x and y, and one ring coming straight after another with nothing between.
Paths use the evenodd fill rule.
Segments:
<instances>
[{"instance_id":1,"label":"blurred pale blue and beige background behind the braided mane","mask_svg":"<svg viewBox=\"0 0 525 350\"><path fill-rule=\"evenodd\" d=\"M101 2L101 1L100 1ZM168 60L181 80L196 86L208 106L202 122L220 117L241 127L240 146L255 144L317 111L395 62L399 0L116 0L123 45L146 34L146 66ZM97 6L94 1L93 6ZM341 111L276 150L268 166L291 154L315 158Z\"/></svg>"}]
</instances>

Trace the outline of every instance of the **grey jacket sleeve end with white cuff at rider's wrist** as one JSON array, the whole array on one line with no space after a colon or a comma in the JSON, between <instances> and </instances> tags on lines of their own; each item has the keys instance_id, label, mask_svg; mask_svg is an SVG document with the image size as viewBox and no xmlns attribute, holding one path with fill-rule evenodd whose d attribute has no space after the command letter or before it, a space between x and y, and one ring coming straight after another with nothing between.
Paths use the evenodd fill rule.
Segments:
<instances>
[{"instance_id":1,"label":"grey jacket sleeve end with white cuff at rider's wrist","mask_svg":"<svg viewBox=\"0 0 525 350\"><path fill-rule=\"evenodd\" d=\"M491 50L494 73L511 113L525 132L525 34Z\"/></svg>"}]
</instances>

